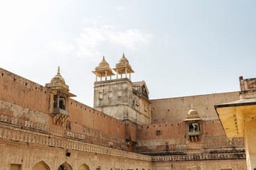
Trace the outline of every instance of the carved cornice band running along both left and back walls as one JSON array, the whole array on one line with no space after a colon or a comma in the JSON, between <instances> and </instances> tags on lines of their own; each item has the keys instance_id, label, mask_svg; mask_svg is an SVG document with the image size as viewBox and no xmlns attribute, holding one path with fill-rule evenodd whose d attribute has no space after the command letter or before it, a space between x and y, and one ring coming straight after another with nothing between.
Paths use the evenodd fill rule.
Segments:
<instances>
[{"instance_id":1,"label":"carved cornice band running along both left and back walls","mask_svg":"<svg viewBox=\"0 0 256 170\"><path fill-rule=\"evenodd\" d=\"M0 115L0 122L8 116ZM18 123L17 118L12 118L11 123ZM29 130L26 128L36 128L37 130ZM42 131L55 132L58 135L43 133ZM58 131L58 132L57 132ZM60 134L63 137L60 137ZM67 130L60 130L52 128L40 123L31 123L25 120L25 128L17 128L14 125L0 123L0 140L7 140L13 142L26 143L27 145L40 145L46 147L56 147L61 149L78 150L81 152L90 152L97 154L105 154L114 157L124 157L128 159L139 159L142 161L152 162L176 162L176 161L200 161L200 160L223 160L223 159L245 159L244 152L231 152L231 153L217 153L217 154L174 154L165 156L148 156L144 154L137 154L134 152L127 152L121 149L114 149L112 147L105 147L86 142L86 135L77 134Z\"/></svg>"}]
</instances>

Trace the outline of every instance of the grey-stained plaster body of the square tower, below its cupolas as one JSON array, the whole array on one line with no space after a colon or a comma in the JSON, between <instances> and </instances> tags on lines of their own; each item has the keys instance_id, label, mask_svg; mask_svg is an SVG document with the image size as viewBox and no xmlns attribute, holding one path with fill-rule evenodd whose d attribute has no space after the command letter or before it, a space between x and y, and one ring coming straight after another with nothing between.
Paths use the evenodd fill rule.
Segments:
<instances>
[{"instance_id":1,"label":"grey-stained plaster body of the square tower, below its cupolas","mask_svg":"<svg viewBox=\"0 0 256 170\"><path fill-rule=\"evenodd\" d=\"M132 123L149 123L151 108L149 101L133 94L132 81L113 79L96 81L94 86L94 108L119 120Z\"/></svg>"}]
</instances>

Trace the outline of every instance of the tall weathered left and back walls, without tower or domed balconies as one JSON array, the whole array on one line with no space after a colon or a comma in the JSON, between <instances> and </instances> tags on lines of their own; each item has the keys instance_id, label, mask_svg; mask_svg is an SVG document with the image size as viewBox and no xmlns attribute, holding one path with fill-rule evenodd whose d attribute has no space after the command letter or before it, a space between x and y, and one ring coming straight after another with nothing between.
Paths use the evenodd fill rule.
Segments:
<instances>
[{"instance_id":1,"label":"tall weathered left and back walls, without tower or domed balconies","mask_svg":"<svg viewBox=\"0 0 256 170\"><path fill-rule=\"evenodd\" d=\"M105 92L111 96L119 95L118 91ZM132 95L123 98L131 106ZM129 106L127 113L131 114L127 118L143 119L137 112L152 111L153 124L145 125L124 123L69 98L70 117L62 126L53 123L50 89L0 69L1 169L9 170L11 164L21 165L23 170L31 170L36 164L58 169L63 163L72 169L86 164L97 170L239 169L245 166L243 141L225 137L213 110L214 104L237 98L239 93L233 92L152 100L151 108L145 105L136 111L130 111L133 108ZM203 119L199 142L189 142L186 137L183 120L191 103ZM144 103L139 101L139 105ZM122 110L115 112L127 115ZM142 154L128 152L127 145Z\"/></svg>"}]
</instances>

